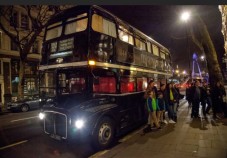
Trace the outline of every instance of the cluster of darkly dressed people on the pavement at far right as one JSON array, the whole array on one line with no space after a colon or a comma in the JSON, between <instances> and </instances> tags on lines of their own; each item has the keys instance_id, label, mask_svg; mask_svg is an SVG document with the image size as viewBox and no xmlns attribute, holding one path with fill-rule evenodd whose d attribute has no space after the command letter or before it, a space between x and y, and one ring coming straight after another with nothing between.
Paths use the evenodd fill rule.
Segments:
<instances>
[{"instance_id":1,"label":"cluster of darkly dressed people on the pavement at far right","mask_svg":"<svg viewBox=\"0 0 227 158\"><path fill-rule=\"evenodd\" d=\"M191 117L200 118L199 108L202 106L202 114L207 118L210 114L210 109L213 111L213 119L220 119L218 113L227 116L226 114L226 92L221 82L216 82L213 88L204 80L202 85L199 80L191 83L191 86L186 89L186 99L189 106L192 107Z\"/></svg>"}]
</instances>

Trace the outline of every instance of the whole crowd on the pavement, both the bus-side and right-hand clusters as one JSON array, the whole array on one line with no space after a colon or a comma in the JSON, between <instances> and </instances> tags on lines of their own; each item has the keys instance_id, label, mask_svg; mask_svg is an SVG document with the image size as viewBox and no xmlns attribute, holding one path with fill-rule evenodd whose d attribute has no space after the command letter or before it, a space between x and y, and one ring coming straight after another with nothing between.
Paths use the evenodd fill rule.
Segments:
<instances>
[{"instance_id":1,"label":"whole crowd on the pavement, both the bus-side and right-hand clusters","mask_svg":"<svg viewBox=\"0 0 227 158\"><path fill-rule=\"evenodd\" d=\"M163 124L177 122L177 108L182 95L179 88L173 82L168 84L161 83L157 90L154 80L150 80L144 94L146 108L148 112L148 125L144 132L151 131L153 128L161 129ZM220 119L222 113L227 117L227 97L225 88L221 82L217 82L213 88L204 80L202 84L196 80L186 89L186 100L189 107L192 107L191 118L200 118L199 108L202 106L202 115L207 118L210 109L213 111L213 119ZM169 121L165 119L165 112L168 112Z\"/></svg>"}]
</instances>

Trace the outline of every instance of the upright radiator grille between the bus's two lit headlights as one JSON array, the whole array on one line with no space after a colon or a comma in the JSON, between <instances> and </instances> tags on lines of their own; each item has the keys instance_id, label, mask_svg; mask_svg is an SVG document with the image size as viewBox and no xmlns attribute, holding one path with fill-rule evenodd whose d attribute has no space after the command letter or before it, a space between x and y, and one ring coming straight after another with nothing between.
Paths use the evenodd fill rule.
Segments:
<instances>
[{"instance_id":1,"label":"upright radiator grille between the bus's two lit headlights","mask_svg":"<svg viewBox=\"0 0 227 158\"><path fill-rule=\"evenodd\" d=\"M59 112L45 112L44 131L67 139L67 116Z\"/></svg>"}]
</instances>

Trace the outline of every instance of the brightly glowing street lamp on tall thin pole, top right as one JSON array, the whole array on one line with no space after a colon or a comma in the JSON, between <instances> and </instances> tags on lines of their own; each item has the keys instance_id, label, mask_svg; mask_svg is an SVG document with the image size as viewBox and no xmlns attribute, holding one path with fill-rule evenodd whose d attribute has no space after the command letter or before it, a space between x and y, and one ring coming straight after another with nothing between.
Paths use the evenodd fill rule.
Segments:
<instances>
[{"instance_id":1,"label":"brightly glowing street lamp on tall thin pole, top right","mask_svg":"<svg viewBox=\"0 0 227 158\"><path fill-rule=\"evenodd\" d=\"M190 16L191 16L191 13L189 11L184 11L182 12L181 14L181 17L180 19L185 23L185 34L187 36L187 51L188 51L188 67L189 67L189 77L191 78L191 75L192 75L192 71L191 71L191 52L190 52L190 45L189 45L189 39L188 39L188 28L187 28L187 22L188 20L190 19Z\"/></svg>"}]
</instances>

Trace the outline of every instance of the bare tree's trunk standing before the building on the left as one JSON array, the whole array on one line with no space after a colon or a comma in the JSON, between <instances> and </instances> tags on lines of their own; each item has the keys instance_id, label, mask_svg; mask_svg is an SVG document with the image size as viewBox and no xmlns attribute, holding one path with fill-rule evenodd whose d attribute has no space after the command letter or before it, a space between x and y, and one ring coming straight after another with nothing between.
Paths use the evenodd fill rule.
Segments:
<instances>
[{"instance_id":1,"label":"bare tree's trunk standing before the building on the left","mask_svg":"<svg viewBox=\"0 0 227 158\"><path fill-rule=\"evenodd\" d=\"M23 98L23 90L24 90L24 69L25 63L20 60L20 69L19 69L19 83L18 83L18 99Z\"/></svg>"}]
</instances>

